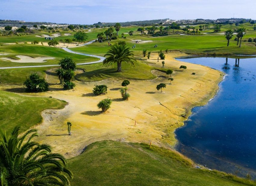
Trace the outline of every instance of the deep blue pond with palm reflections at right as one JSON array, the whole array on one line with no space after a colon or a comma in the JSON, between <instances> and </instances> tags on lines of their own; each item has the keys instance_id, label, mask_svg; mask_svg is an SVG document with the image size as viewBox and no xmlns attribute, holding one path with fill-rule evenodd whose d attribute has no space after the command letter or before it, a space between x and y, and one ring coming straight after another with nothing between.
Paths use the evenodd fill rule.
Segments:
<instances>
[{"instance_id":1,"label":"deep blue pond with palm reflections at right","mask_svg":"<svg viewBox=\"0 0 256 186\"><path fill-rule=\"evenodd\" d=\"M218 95L194 108L176 130L177 149L208 168L234 173L256 172L256 59L182 58L222 70L227 75ZM247 170L245 170L247 169Z\"/></svg>"}]
</instances>

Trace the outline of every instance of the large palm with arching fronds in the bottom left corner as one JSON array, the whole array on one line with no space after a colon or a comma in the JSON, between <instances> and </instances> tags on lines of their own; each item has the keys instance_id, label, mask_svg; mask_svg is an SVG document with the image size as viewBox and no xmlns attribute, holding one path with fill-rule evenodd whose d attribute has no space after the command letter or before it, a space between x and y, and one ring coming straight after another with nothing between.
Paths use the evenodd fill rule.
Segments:
<instances>
[{"instance_id":1,"label":"large palm with arching fronds in the bottom left corner","mask_svg":"<svg viewBox=\"0 0 256 186\"><path fill-rule=\"evenodd\" d=\"M70 185L73 174L67 169L66 159L52 153L49 145L32 141L36 129L21 135L19 131L18 126L9 135L0 131L1 185Z\"/></svg>"}]
</instances>

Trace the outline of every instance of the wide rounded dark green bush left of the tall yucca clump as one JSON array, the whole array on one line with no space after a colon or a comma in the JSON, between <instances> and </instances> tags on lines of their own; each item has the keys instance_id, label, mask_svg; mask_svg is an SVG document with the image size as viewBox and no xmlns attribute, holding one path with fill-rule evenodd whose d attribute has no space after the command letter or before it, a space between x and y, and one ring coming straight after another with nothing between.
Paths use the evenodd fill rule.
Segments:
<instances>
[{"instance_id":1,"label":"wide rounded dark green bush left of the tall yucca clump","mask_svg":"<svg viewBox=\"0 0 256 186\"><path fill-rule=\"evenodd\" d=\"M48 82L36 72L31 73L23 85L27 92L45 92L49 88Z\"/></svg>"}]
</instances>

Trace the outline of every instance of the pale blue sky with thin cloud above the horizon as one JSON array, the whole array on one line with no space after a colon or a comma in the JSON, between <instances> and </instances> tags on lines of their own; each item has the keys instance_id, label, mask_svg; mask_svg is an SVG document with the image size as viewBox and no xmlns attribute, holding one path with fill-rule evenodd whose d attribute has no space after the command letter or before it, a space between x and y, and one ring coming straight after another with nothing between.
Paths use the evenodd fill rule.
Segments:
<instances>
[{"instance_id":1,"label":"pale blue sky with thin cloud above the horizon","mask_svg":"<svg viewBox=\"0 0 256 186\"><path fill-rule=\"evenodd\" d=\"M151 19L256 19L255 0L0 0L0 19L93 24Z\"/></svg>"}]
</instances>

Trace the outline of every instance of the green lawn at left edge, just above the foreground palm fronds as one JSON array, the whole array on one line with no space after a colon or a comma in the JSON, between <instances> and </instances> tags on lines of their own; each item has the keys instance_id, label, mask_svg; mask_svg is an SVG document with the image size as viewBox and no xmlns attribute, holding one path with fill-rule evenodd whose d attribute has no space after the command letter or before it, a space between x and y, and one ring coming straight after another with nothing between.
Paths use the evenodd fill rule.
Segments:
<instances>
[{"instance_id":1,"label":"green lawn at left edge, just above the foreground palm fronds","mask_svg":"<svg viewBox=\"0 0 256 186\"><path fill-rule=\"evenodd\" d=\"M42 121L43 110L61 109L66 104L54 98L27 97L0 91L0 128L8 133L18 125L25 131Z\"/></svg>"}]
</instances>

